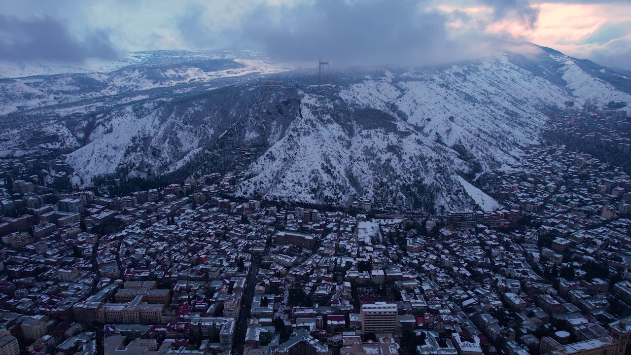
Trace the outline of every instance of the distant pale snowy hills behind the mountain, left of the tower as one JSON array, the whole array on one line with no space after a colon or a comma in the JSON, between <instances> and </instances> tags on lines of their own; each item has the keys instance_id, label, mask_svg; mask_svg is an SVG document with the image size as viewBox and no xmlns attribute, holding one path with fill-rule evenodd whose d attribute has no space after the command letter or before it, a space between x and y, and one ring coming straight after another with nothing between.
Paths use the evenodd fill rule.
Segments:
<instances>
[{"instance_id":1,"label":"distant pale snowy hills behind the mountain, left of the tower","mask_svg":"<svg viewBox=\"0 0 631 355\"><path fill-rule=\"evenodd\" d=\"M168 94L173 95L175 88L187 92L215 81L247 80L291 69L287 64L265 63L251 56L240 59L223 52L179 51L130 53L117 61L83 63L81 68L0 63L0 115L57 104L79 107L95 100L125 100L115 95L155 88L168 88Z\"/></svg>"}]
</instances>

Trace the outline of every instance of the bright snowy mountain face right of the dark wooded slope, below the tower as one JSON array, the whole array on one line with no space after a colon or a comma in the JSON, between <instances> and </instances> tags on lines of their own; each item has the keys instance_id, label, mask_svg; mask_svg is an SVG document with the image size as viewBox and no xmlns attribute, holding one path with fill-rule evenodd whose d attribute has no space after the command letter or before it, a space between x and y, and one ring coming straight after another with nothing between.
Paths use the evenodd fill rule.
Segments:
<instances>
[{"instance_id":1,"label":"bright snowy mountain face right of the dark wooded slope, below the tower","mask_svg":"<svg viewBox=\"0 0 631 355\"><path fill-rule=\"evenodd\" d=\"M568 99L509 56L380 73L339 93L306 94L302 117L252 164L240 192L342 204L366 195L399 210L493 208L461 176L517 164L546 107Z\"/></svg>"}]
</instances>

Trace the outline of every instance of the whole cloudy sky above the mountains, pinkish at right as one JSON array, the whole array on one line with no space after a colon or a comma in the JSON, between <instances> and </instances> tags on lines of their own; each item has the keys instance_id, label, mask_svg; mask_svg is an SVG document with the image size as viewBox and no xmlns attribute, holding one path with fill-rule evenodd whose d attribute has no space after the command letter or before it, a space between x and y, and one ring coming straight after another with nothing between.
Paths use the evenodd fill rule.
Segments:
<instances>
[{"instance_id":1,"label":"whole cloudy sky above the mountains, pinkish at right","mask_svg":"<svg viewBox=\"0 0 631 355\"><path fill-rule=\"evenodd\" d=\"M0 2L0 60L149 49L256 49L280 61L436 64L524 41L631 69L629 0L20 0Z\"/></svg>"}]
</instances>

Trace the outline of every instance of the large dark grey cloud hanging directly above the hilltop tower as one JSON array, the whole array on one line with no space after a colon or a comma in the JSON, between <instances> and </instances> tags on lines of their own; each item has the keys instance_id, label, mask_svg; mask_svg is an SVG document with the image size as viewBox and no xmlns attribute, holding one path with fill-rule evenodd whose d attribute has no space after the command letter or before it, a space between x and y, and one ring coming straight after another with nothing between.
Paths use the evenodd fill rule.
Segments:
<instances>
[{"instance_id":1,"label":"large dark grey cloud hanging directly above the hilltop tower","mask_svg":"<svg viewBox=\"0 0 631 355\"><path fill-rule=\"evenodd\" d=\"M444 15L418 13L413 1L323 0L280 11L276 17L261 6L245 21L243 31L245 40L281 59L328 56L379 63L401 56L431 56L449 42Z\"/></svg>"}]
</instances>

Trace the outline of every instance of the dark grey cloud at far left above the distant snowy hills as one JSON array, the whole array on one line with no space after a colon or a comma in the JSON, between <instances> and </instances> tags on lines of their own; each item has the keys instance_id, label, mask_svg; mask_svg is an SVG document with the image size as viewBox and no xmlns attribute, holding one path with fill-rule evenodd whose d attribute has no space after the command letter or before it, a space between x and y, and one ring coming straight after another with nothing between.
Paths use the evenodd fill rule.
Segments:
<instances>
[{"instance_id":1,"label":"dark grey cloud at far left above the distant snowy hills","mask_svg":"<svg viewBox=\"0 0 631 355\"><path fill-rule=\"evenodd\" d=\"M22 20L0 15L0 59L77 63L88 57L112 58L116 54L103 31L90 31L83 39L76 39L64 23L54 18Z\"/></svg>"}]
</instances>

